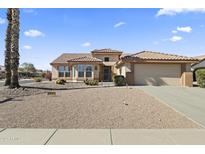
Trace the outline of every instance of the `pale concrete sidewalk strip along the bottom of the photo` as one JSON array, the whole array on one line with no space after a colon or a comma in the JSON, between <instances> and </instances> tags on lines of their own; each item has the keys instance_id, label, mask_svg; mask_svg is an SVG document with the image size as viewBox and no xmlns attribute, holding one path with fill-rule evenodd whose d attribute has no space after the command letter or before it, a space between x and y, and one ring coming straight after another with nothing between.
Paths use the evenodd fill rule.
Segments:
<instances>
[{"instance_id":1,"label":"pale concrete sidewalk strip along the bottom of the photo","mask_svg":"<svg viewBox=\"0 0 205 154\"><path fill-rule=\"evenodd\" d=\"M1 145L205 144L205 129L0 129Z\"/></svg>"}]
</instances>

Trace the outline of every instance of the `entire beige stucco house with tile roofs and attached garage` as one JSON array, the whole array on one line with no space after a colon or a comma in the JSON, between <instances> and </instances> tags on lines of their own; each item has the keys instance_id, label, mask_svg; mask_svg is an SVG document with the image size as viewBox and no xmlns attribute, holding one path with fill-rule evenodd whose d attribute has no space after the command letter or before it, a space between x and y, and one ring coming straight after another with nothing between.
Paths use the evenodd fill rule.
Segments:
<instances>
[{"instance_id":1,"label":"entire beige stucco house with tile roofs and attached garage","mask_svg":"<svg viewBox=\"0 0 205 154\"><path fill-rule=\"evenodd\" d=\"M62 54L51 65L53 79L112 81L114 75L121 74L129 85L192 86L191 63L196 62L196 58L151 51L124 55L121 51L101 49Z\"/></svg>"}]
</instances>

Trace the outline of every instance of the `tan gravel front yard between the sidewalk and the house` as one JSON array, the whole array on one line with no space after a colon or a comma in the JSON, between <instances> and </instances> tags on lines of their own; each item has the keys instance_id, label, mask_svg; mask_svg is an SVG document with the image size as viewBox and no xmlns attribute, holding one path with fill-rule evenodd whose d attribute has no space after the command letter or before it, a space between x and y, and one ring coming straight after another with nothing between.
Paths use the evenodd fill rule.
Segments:
<instances>
[{"instance_id":1,"label":"tan gravel front yard between the sidewalk and the house","mask_svg":"<svg viewBox=\"0 0 205 154\"><path fill-rule=\"evenodd\" d=\"M0 128L200 128L139 89L84 88L56 94L1 103Z\"/></svg>"}]
</instances>

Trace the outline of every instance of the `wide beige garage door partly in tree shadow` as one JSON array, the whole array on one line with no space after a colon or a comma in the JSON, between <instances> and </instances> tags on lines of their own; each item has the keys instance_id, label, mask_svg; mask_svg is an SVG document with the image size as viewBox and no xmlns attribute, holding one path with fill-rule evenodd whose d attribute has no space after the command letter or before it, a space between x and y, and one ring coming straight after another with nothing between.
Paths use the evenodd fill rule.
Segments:
<instances>
[{"instance_id":1,"label":"wide beige garage door partly in tree shadow","mask_svg":"<svg viewBox=\"0 0 205 154\"><path fill-rule=\"evenodd\" d=\"M179 86L180 64L135 64L134 81L136 85Z\"/></svg>"}]
</instances>

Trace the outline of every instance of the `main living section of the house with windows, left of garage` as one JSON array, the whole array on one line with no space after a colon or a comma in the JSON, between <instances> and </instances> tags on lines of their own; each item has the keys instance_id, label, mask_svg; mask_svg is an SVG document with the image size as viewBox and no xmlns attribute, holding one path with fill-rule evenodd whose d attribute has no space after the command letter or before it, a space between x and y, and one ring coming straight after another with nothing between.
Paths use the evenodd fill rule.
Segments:
<instances>
[{"instance_id":1,"label":"main living section of the house with windows, left of garage","mask_svg":"<svg viewBox=\"0 0 205 154\"><path fill-rule=\"evenodd\" d=\"M64 53L51 63L52 79L112 81L117 73L115 64L121 55L122 51L112 49L94 50L91 53Z\"/></svg>"}]
</instances>

